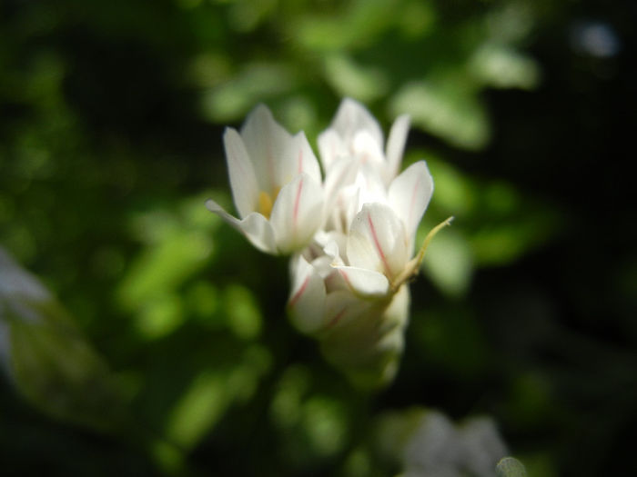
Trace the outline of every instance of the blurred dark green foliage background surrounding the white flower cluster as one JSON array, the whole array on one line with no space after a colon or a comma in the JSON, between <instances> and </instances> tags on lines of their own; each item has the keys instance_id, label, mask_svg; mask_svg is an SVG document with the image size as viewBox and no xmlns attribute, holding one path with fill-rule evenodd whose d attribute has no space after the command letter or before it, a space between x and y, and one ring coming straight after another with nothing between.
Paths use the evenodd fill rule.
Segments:
<instances>
[{"instance_id":1,"label":"blurred dark green foliage background surrounding the white flower cluster","mask_svg":"<svg viewBox=\"0 0 637 477\"><path fill-rule=\"evenodd\" d=\"M64 379L25 393L40 364L3 374L3 475L392 475L372 436L415 408L490 415L531 477L637 472L636 13L2 0L0 245L92 350L56 341L42 373L94 366L70 401ZM343 96L386 132L411 114L406 162L436 186L420 234L456 216L371 394L289 325L286 260L204 207L232 209L226 125L264 102L317 151Z\"/></svg>"}]
</instances>

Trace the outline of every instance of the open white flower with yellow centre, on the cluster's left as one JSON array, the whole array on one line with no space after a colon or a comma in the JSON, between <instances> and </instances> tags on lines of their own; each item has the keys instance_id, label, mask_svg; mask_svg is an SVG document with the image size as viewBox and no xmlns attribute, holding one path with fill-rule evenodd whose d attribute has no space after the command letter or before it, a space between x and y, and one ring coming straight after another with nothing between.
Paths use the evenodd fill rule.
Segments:
<instances>
[{"instance_id":1,"label":"open white flower with yellow centre, on the cluster's left","mask_svg":"<svg viewBox=\"0 0 637 477\"><path fill-rule=\"evenodd\" d=\"M207 208L263 252L292 253L306 246L323 222L323 191L305 134L288 134L260 104L240 134L227 128L224 145L240 219L213 200Z\"/></svg>"}]
</instances>

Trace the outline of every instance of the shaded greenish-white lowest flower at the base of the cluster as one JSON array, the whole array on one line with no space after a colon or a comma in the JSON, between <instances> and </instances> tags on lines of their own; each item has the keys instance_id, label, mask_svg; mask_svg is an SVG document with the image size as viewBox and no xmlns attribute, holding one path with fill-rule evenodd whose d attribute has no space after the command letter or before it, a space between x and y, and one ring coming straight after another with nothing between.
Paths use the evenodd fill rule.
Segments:
<instances>
[{"instance_id":1,"label":"shaded greenish-white lowest flower at the base of the cluster","mask_svg":"<svg viewBox=\"0 0 637 477\"><path fill-rule=\"evenodd\" d=\"M333 243L332 243L333 244ZM327 247L329 248L329 247ZM312 263L297 255L292 263L293 288L288 302L292 323L315 336L329 363L362 387L389 383L398 370L409 317L409 287L388 293L387 280L331 268L324 256ZM369 294L355 293L352 283L365 282Z\"/></svg>"}]
</instances>

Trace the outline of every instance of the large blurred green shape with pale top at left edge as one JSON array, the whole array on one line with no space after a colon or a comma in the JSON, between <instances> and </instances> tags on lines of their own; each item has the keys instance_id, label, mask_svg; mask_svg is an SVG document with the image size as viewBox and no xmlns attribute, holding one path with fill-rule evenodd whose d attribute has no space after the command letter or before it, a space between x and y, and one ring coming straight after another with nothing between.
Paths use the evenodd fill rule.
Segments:
<instances>
[{"instance_id":1,"label":"large blurred green shape with pale top at left edge","mask_svg":"<svg viewBox=\"0 0 637 477\"><path fill-rule=\"evenodd\" d=\"M63 421L119 431L126 400L65 310L0 248L0 358L15 387Z\"/></svg>"}]
</instances>

